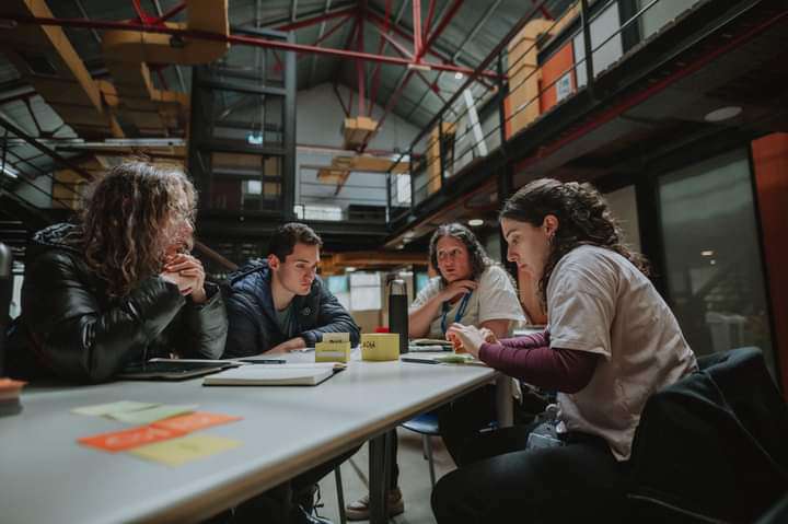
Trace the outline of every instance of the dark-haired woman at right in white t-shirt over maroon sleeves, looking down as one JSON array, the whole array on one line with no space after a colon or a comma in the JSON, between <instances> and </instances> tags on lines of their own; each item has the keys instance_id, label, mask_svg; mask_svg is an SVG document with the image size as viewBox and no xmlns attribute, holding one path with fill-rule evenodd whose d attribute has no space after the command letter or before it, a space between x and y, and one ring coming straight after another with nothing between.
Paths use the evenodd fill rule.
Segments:
<instances>
[{"instance_id":1,"label":"dark-haired woman at right in white t-shirt over maroon sleeves, looking down","mask_svg":"<svg viewBox=\"0 0 788 524\"><path fill-rule=\"evenodd\" d=\"M513 339L449 331L488 365L559 392L558 435L526 450L533 428L514 427L466 445L463 467L432 493L436 517L615 521L646 399L696 370L695 357L592 186L534 181L506 202L501 229L508 259L538 281L547 329Z\"/></svg>"}]
</instances>

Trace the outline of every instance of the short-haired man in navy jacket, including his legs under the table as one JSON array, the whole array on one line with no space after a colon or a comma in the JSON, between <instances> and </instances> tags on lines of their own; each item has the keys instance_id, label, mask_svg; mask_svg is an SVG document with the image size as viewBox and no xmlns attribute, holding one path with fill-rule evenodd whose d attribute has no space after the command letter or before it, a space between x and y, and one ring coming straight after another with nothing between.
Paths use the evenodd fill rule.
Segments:
<instances>
[{"instance_id":1,"label":"short-haired man in navy jacket, including his legs under the table","mask_svg":"<svg viewBox=\"0 0 788 524\"><path fill-rule=\"evenodd\" d=\"M322 245L308 225L285 224L271 236L266 259L253 260L230 275L225 359L312 347L322 341L324 333L348 333L350 342L358 345L358 326L316 276ZM313 514L316 484L357 451L237 505L232 524L328 523Z\"/></svg>"}]
</instances>

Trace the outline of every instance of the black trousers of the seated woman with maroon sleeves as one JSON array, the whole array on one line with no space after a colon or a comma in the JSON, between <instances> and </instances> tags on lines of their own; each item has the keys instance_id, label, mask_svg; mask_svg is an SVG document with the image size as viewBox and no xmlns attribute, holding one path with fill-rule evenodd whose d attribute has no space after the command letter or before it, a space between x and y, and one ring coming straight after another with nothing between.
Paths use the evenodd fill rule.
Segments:
<instances>
[{"instance_id":1,"label":"black trousers of the seated woman with maroon sleeves","mask_svg":"<svg viewBox=\"0 0 788 524\"><path fill-rule=\"evenodd\" d=\"M530 430L484 433L464 447L464 466L432 491L439 524L622 522L627 463L582 433L568 435L565 446L524 451Z\"/></svg>"}]
</instances>

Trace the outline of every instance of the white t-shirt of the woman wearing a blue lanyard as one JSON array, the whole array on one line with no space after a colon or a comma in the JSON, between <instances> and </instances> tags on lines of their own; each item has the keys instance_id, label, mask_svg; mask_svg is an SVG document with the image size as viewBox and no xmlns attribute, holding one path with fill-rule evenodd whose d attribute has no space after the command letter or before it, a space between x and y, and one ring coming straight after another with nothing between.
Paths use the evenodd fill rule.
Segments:
<instances>
[{"instance_id":1,"label":"white t-shirt of the woman wearing a blue lanyard","mask_svg":"<svg viewBox=\"0 0 788 524\"><path fill-rule=\"evenodd\" d=\"M440 277L432 278L416 296L410 305L410 312L422 306L425 302L440 293L441 289ZM459 300L441 310L438 317L433 318L430 324L429 338L443 338L441 324L444 314L447 327L454 322L465 326L478 326L487 321L514 321L509 323L510 333L515 322L525 319L512 280L500 266L489 266L484 270L478 278L478 287L471 293L463 312L460 311L462 302Z\"/></svg>"}]
</instances>

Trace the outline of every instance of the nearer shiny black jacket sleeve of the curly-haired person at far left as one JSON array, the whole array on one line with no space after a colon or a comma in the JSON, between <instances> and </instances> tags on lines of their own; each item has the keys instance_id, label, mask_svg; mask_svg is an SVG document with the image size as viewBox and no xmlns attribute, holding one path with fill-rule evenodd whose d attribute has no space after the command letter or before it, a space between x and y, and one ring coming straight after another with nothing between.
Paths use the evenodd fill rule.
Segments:
<instances>
[{"instance_id":1,"label":"nearer shiny black jacket sleeve of the curly-haired person at far left","mask_svg":"<svg viewBox=\"0 0 788 524\"><path fill-rule=\"evenodd\" d=\"M78 264L56 252L33 264L25 277L24 322L34 340L32 349L55 374L102 382L127 362L143 358L185 299L175 284L152 277L116 305L102 308Z\"/></svg>"}]
</instances>

